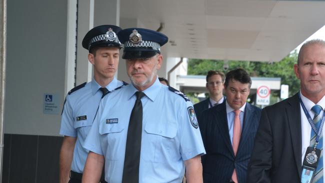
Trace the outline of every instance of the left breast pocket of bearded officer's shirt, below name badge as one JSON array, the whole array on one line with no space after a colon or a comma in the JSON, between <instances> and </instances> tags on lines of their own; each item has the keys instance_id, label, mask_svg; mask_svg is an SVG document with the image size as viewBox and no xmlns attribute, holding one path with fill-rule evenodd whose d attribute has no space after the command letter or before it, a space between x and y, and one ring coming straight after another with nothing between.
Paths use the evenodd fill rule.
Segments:
<instances>
[{"instance_id":1,"label":"left breast pocket of bearded officer's shirt, below name badge","mask_svg":"<svg viewBox=\"0 0 325 183\"><path fill-rule=\"evenodd\" d=\"M109 160L118 160L120 158L120 149L123 149L122 144L125 144L123 138L124 126L119 123L106 124L102 122L99 125L99 134L101 144L104 146L104 156Z\"/></svg>"}]
</instances>

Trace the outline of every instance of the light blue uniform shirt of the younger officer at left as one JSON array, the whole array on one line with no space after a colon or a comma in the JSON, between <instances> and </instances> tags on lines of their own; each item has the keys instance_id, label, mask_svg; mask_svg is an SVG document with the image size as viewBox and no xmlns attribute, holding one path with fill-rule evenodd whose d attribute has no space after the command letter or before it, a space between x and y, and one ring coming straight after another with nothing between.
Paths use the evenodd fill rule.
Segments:
<instances>
[{"instance_id":1,"label":"light blue uniform shirt of the younger officer at left","mask_svg":"<svg viewBox=\"0 0 325 183\"><path fill-rule=\"evenodd\" d=\"M108 91L123 85L122 81L113 78L106 86ZM86 161L88 150L82 144L90 130L95 113L97 111L102 92L98 90L101 86L92 79L84 87L68 94L63 106L61 116L60 134L65 136L77 137L71 170L82 173Z\"/></svg>"}]
</instances>

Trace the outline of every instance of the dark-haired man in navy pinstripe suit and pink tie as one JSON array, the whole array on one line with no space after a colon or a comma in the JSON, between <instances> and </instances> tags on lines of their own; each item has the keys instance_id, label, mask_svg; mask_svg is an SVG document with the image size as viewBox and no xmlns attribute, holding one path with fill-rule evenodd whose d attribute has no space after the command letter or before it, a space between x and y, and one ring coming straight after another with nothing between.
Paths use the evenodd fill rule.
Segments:
<instances>
[{"instance_id":1,"label":"dark-haired man in navy pinstripe suit and pink tie","mask_svg":"<svg viewBox=\"0 0 325 183\"><path fill-rule=\"evenodd\" d=\"M246 102L251 79L234 69L226 74L225 102L204 110L199 127L206 155L203 182L246 182L246 169L258 127L260 108Z\"/></svg>"}]
</instances>

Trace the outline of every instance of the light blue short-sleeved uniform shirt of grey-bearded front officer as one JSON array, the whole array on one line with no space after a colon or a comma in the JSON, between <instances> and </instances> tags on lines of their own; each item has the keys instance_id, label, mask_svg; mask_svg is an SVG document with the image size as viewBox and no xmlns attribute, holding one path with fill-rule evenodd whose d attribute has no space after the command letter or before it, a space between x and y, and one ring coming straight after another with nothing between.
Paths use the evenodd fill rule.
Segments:
<instances>
[{"instance_id":1,"label":"light blue short-sleeved uniform shirt of grey-bearded front officer","mask_svg":"<svg viewBox=\"0 0 325 183\"><path fill-rule=\"evenodd\" d=\"M122 181L128 122L137 89L129 84L107 94L84 147L105 158L105 180ZM190 101L170 91L156 78L143 91L139 182L181 182L184 160L205 154ZM194 121L193 121L194 120ZM196 120L196 121L195 121Z\"/></svg>"}]
</instances>

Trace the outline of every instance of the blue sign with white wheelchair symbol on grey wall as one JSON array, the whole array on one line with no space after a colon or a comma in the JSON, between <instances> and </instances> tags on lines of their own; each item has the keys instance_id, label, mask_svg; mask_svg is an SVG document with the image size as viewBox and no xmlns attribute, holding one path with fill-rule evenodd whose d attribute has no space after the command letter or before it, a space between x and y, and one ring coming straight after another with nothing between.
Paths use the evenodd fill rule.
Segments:
<instances>
[{"instance_id":1,"label":"blue sign with white wheelchair symbol on grey wall","mask_svg":"<svg viewBox=\"0 0 325 183\"><path fill-rule=\"evenodd\" d=\"M59 114L59 97L58 94L44 93L43 96L43 113Z\"/></svg>"}]
</instances>

